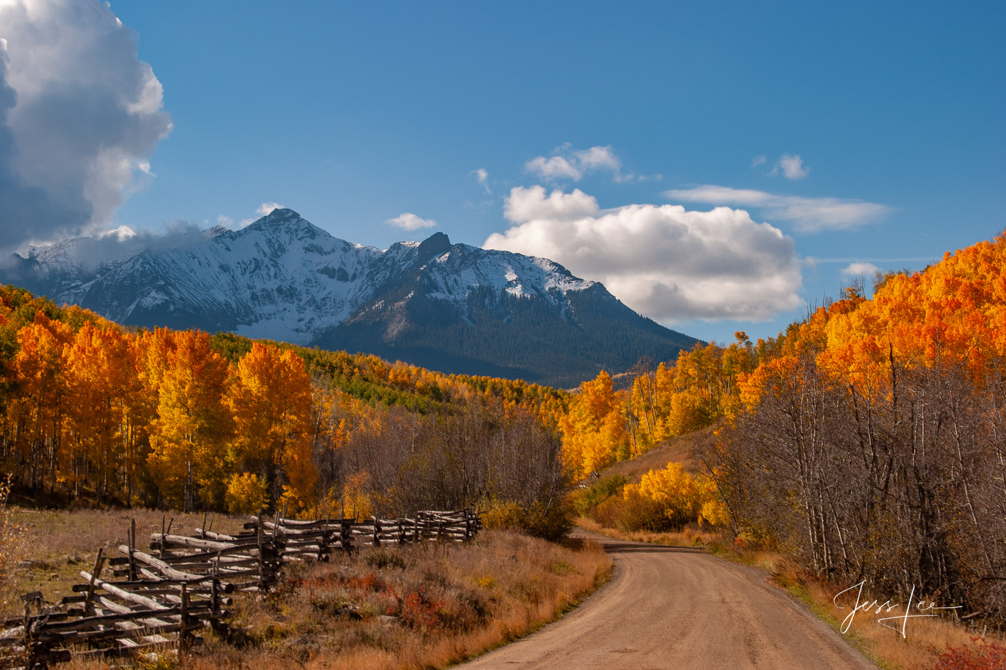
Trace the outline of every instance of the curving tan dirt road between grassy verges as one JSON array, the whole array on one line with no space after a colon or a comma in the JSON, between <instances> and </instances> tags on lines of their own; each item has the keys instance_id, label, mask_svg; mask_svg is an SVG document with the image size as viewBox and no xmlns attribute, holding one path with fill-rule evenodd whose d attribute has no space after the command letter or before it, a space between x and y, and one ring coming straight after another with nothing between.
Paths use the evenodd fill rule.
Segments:
<instances>
[{"instance_id":1,"label":"curving tan dirt road between grassy verges","mask_svg":"<svg viewBox=\"0 0 1006 670\"><path fill-rule=\"evenodd\" d=\"M876 670L761 570L582 534L615 559L612 580L558 622L461 667Z\"/></svg>"}]
</instances>

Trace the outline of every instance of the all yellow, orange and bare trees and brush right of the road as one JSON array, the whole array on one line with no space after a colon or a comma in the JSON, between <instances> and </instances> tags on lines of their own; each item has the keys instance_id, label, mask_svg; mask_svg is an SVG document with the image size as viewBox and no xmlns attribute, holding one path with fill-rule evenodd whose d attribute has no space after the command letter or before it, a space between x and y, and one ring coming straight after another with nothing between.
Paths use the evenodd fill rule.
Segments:
<instances>
[{"instance_id":1,"label":"all yellow, orange and bare trees and brush right of the road","mask_svg":"<svg viewBox=\"0 0 1006 670\"><path fill-rule=\"evenodd\" d=\"M622 391L605 374L585 382L560 422L569 466L586 478L577 512L669 543L689 527L712 532L714 551L774 569L826 619L840 612L831 598L859 581L871 601L953 608L914 642L872 621L857 635L889 667L1001 667L1004 286L999 236L924 272L878 275L871 298L854 283L777 338L738 332L728 346L641 364ZM591 476L710 428L691 473ZM712 499L722 516L700 511Z\"/></svg>"}]
</instances>

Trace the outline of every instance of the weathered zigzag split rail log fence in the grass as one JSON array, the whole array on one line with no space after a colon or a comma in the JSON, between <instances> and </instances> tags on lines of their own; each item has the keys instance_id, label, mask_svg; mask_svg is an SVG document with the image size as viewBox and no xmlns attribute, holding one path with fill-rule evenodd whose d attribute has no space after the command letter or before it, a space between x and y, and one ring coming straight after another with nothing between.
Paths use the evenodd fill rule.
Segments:
<instances>
[{"instance_id":1,"label":"weathered zigzag split rail log fence in the grass","mask_svg":"<svg viewBox=\"0 0 1006 670\"><path fill-rule=\"evenodd\" d=\"M74 656L184 657L203 643L205 629L226 639L231 594L273 589L285 563L327 561L333 552L367 545L464 542L481 529L479 514L468 509L363 522L277 513L253 516L236 535L213 532L205 517L191 535L172 534L171 525L162 523L143 551L132 521L129 543L118 547L123 555L99 549L94 567L80 571L83 581L60 605L45 606L40 592L23 596L24 616L0 622L0 668L44 670Z\"/></svg>"}]
</instances>

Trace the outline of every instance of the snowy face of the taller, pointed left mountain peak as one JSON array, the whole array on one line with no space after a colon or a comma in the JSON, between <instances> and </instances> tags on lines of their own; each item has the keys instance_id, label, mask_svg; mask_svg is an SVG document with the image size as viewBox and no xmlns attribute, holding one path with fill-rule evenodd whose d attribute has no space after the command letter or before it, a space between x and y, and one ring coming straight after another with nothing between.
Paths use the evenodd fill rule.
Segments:
<instances>
[{"instance_id":1,"label":"snowy face of the taller, pointed left mountain peak","mask_svg":"<svg viewBox=\"0 0 1006 670\"><path fill-rule=\"evenodd\" d=\"M121 323L181 322L309 344L345 319L414 256L415 242L381 252L333 237L276 209L206 243L146 249L58 300Z\"/></svg>"}]
</instances>

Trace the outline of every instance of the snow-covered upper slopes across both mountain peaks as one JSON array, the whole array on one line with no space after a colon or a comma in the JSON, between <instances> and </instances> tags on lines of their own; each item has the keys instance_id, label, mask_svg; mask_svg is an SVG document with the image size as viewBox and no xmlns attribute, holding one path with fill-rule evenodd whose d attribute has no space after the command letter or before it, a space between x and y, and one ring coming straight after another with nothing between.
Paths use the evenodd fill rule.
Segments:
<instances>
[{"instance_id":1,"label":"snow-covered upper slopes across both mountain peaks","mask_svg":"<svg viewBox=\"0 0 1006 670\"><path fill-rule=\"evenodd\" d=\"M57 302L124 324L230 330L297 344L313 343L410 273L424 277L427 297L462 310L471 291L489 288L562 311L565 291L594 285L544 259L451 245L443 233L383 250L355 244L292 209L240 230L217 227L139 250L119 244L119 258L103 241L76 238L31 250Z\"/></svg>"}]
</instances>

